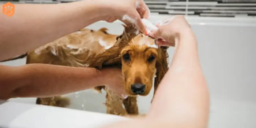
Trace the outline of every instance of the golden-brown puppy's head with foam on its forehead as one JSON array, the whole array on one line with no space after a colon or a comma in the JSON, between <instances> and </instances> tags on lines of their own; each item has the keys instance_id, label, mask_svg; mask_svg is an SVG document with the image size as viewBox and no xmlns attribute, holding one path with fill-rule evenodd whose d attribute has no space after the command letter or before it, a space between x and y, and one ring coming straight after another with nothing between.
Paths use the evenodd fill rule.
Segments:
<instances>
[{"instance_id":1,"label":"golden-brown puppy's head with foam on its forehead","mask_svg":"<svg viewBox=\"0 0 256 128\"><path fill-rule=\"evenodd\" d=\"M122 36L127 41L120 52L125 91L128 95L148 95L157 72L156 65L166 59L165 50L158 47L153 38L132 31L131 26L125 27Z\"/></svg>"}]
</instances>

